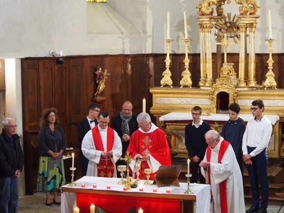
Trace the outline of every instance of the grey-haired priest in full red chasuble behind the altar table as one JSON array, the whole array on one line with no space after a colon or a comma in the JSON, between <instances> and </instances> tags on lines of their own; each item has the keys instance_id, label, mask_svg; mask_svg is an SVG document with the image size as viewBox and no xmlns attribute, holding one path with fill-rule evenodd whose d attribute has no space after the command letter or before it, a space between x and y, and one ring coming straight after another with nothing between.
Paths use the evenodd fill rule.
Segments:
<instances>
[{"instance_id":1,"label":"grey-haired priest in full red chasuble behind the altar table","mask_svg":"<svg viewBox=\"0 0 284 213\"><path fill-rule=\"evenodd\" d=\"M152 169L150 180L154 180L154 174L157 173L161 165L170 165L170 149L165 133L151 122L148 113L140 113L137 116L139 129L132 133L130 145L127 151L130 156L135 158L130 163L132 172L136 160L141 160L141 169L139 170L139 178L146 179L144 169Z\"/></svg>"}]
</instances>

